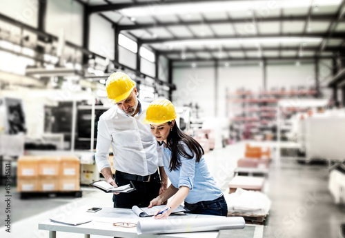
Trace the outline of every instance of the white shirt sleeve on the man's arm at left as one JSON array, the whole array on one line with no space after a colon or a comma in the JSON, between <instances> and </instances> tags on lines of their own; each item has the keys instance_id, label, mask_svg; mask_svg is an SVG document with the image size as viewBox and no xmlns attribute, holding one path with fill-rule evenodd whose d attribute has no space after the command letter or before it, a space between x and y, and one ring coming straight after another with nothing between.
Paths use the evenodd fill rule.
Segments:
<instances>
[{"instance_id":1,"label":"white shirt sleeve on the man's arm at left","mask_svg":"<svg viewBox=\"0 0 345 238\"><path fill-rule=\"evenodd\" d=\"M110 161L108 161L110 145L111 135L106 126L106 121L100 118L98 121L97 146L95 153L95 160L99 172L101 172L103 168L111 168Z\"/></svg>"}]
</instances>

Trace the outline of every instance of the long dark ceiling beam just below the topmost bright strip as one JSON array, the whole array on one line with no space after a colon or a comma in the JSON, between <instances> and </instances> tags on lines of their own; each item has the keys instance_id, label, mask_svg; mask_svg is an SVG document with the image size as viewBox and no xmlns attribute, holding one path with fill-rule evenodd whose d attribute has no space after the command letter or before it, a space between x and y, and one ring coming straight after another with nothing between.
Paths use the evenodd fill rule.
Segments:
<instances>
[{"instance_id":1,"label":"long dark ceiling beam just below the topmost bright strip","mask_svg":"<svg viewBox=\"0 0 345 238\"><path fill-rule=\"evenodd\" d=\"M317 15L313 16L313 21L333 21L336 17L334 14L324 14L324 15ZM201 24L221 24L221 23L246 23L250 21L247 18L240 18L240 19L221 19L221 20L204 20L204 21L177 21L177 22L164 22L164 23L150 23L150 24L138 24L138 25L120 25L119 30L137 30L143 28L153 28L153 27L169 27L169 26L193 26L193 25L201 25ZM296 17L260 17L256 19L257 23L262 22L272 22L272 21L306 21L305 16L296 16ZM345 22L345 19L341 19L340 21Z\"/></svg>"}]
</instances>

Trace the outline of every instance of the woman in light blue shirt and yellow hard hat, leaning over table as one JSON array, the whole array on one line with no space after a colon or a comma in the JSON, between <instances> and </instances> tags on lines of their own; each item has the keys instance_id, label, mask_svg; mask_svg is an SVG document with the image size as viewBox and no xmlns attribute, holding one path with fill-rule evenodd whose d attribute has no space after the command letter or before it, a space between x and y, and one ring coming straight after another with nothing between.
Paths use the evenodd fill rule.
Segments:
<instances>
[{"instance_id":1,"label":"woman in light blue shirt and yellow hard hat, leaning over table","mask_svg":"<svg viewBox=\"0 0 345 238\"><path fill-rule=\"evenodd\" d=\"M228 206L223 192L208 172L204 150L192 137L177 127L175 108L166 99L150 103L144 123L150 124L163 151L164 170L171 185L161 195L150 201L150 206L164 204L175 195L155 219L166 219L184 201L192 213L226 216Z\"/></svg>"}]
</instances>

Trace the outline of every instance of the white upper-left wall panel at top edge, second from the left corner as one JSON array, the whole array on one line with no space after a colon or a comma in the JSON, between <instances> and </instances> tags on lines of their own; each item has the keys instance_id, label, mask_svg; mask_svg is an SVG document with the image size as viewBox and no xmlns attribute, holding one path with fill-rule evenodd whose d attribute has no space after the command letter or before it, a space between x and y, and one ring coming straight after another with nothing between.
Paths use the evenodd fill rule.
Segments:
<instances>
[{"instance_id":1,"label":"white upper-left wall panel at top edge, second from the left corner","mask_svg":"<svg viewBox=\"0 0 345 238\"><path fill-rule=\"evenodd\" d=\"M46 32L59 37L63 30L66 41L82 46L83 6L80 3L74 0L48 0L46 17Z\"/></svg>"}]
</instances>

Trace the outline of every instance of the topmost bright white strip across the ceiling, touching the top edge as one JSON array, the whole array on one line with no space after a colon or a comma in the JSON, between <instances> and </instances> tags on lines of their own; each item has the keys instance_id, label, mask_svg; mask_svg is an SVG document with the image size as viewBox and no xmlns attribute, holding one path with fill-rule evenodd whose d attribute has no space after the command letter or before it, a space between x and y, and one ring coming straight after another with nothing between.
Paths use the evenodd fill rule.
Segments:
<instances>
[{"instance_id":1,"label":"topmost bright white strip across the ceiling, touching the top edge","mask_svg":"<svg viewBox=\"0 0 345 238\"><path fill-rule=\"evenodd\" d=\"M314 4L322 6L339 6L342 0L318 0ZM152 15L191 14L199 12L236 12L258 10L269 13L270 10L280 8L308 8L311 1L307 0L281 0L281 1L212 1L206 3L167 4L162 6L152 3L150 6L126 8L120 10L127 17L146 17Z\"/></svg>"}]
</instances>

